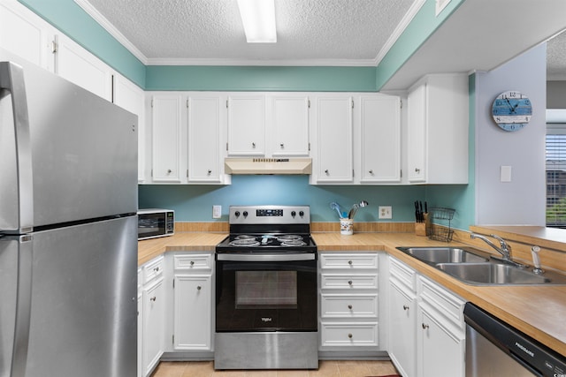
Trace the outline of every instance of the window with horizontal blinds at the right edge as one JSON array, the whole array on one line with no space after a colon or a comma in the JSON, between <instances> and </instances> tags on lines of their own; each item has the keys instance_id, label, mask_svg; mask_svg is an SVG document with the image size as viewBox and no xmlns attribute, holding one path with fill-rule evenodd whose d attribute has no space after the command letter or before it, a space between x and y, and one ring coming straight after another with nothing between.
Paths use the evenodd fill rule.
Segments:
<instances>
[{"instance_id":1,"label":"window with horizontal blinds at the right edge","mask_svg":"<svg viewBox=\"0 0 566 377\"><path fill-rule=\"evenodd\" d=\"M566 228L566 124L547 124L547 227Z\"/></svg>"}]
</instances>

